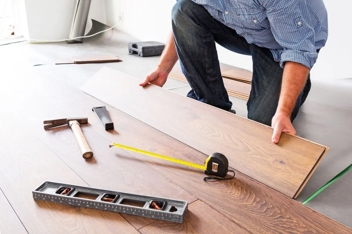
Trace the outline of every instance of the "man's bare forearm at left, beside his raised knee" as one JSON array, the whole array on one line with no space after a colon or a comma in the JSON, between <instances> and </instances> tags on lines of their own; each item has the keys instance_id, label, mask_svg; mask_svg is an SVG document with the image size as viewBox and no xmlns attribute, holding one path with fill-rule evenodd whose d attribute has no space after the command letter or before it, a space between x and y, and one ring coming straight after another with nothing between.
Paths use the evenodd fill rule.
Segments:
<instances>
[{"instance_id":1,"label":"man's bare forearm at left, beside his raised knee","mask_svg":"<svg viewBox=\"0 0 352 234\"><path fill-rule=\"evenodd\" d=\"M175 47L174 34L172 33L172 30L171 30L168 37L168 41L166 42L164 51L161 55L161 58L158 64L158 69L160 69L162 72L170 73L172 67L174 67L177 60L178 60L178 56L177 56L176 47Z\"/></svg>"}]
</instances>

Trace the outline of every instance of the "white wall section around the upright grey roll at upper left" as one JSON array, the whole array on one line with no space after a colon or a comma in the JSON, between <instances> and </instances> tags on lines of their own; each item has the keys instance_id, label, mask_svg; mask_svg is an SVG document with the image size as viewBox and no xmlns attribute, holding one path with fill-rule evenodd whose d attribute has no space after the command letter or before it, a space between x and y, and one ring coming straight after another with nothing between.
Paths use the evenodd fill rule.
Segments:
<instances>
[{"instance_id":1,"label":"white wall section around the upright grey roll at upper left","mask_svg":"<svg viewBox=\"0 0 352 234\"><path fill-rule=\"evenodd\" d=\"M25 7L26 22L17 22L19 28L25 28L26 39L63 40L67 39L73 18L75 0L13 0L17 8ZM22 13L15 13L23 17ZM88 14L86 33L92 27L90 19L106 23L105 2L92 0ZM16 27L17 28L17 27Z\"/></svg>"}]
</instances>

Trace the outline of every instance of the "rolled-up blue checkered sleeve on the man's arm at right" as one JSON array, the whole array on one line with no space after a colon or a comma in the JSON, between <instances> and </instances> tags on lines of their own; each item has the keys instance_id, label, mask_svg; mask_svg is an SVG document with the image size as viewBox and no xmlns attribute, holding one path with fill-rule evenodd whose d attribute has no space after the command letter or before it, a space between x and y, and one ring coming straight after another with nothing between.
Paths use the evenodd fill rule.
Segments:
<instances>
[{"instance_id":1,"label":"rolled-up blue checkered sleeve on the man's arm at right","mask_svg":"<svg viewBox=\"0 0 352 234\"><path fill-rule=\"evenodd\" d=\"M286 61L313 67L318 53L314 28L304 0L263 0L275 40L283 47L280 66Z\"/></svg>"}]
</instances>

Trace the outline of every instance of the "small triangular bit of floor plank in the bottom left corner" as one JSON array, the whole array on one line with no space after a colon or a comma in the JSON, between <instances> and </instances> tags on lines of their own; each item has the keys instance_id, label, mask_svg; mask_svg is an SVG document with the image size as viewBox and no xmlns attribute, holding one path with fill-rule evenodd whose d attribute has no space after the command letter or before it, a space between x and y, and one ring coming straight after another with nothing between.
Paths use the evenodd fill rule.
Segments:
<instances>
[{"instance_id":1,"label":"small triangular bit of floor plank in the bottom left corner","mask_svg":"<svg viewBox=\"0 0 352 234\"><path fill-rule=\"evenodd\" d=\"M0 190L0 233L10 234L27 234L26 229L8 203L4 193Z\"/></svg>"}]
</instances>

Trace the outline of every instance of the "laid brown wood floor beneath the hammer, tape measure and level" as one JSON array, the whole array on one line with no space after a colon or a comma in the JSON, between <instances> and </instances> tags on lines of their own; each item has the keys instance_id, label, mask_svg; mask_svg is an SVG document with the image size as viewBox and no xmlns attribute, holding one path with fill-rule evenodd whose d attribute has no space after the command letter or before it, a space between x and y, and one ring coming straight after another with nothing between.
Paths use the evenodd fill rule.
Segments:
<instances>
[{"instance_id":1,"label":"laid brown wood floor beneath the hammer, tape measure and level","mask_svg":"<svg viewBox=\"0 0 352 234\"><path fill-rule=\"evenodd\" d=\"M104 103L47 74L15 70L0 95L1 233L351 233L240 172L205 182L201 170L109 148L113 141L199 164L207 158L108 105L115 129L105 131L92 112ZM88 117L90 160L68 126L43 129L43 120L73 116ZM46 180L186 200L189 210L183 223L172 223L33 200Z\"/></svg>"}]
</instances>

